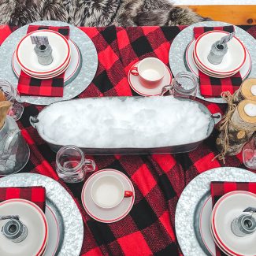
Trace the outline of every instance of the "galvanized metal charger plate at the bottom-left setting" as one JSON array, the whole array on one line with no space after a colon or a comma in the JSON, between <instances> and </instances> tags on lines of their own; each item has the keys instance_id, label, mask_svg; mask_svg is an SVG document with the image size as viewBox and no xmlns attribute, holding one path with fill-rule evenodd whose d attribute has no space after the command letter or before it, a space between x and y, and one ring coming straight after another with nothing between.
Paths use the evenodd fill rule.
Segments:
<instances>
[{"instance_id":1,"label":"galvanized metal charger plate at the bottom-left setting","mask_svg":"<svg viewBox=\"0 0 256 256\"><path fill-rule=\"evenodd\" d=\"M46 205L54 211L58 220L61 237L57 254L59 256L79 256L83 243L83 220L76 202L57 181L36 173L18 173L0 179L0 187L46 188ZM49 238L50 239L50 238Z\"/></svg>"}]
</instances>

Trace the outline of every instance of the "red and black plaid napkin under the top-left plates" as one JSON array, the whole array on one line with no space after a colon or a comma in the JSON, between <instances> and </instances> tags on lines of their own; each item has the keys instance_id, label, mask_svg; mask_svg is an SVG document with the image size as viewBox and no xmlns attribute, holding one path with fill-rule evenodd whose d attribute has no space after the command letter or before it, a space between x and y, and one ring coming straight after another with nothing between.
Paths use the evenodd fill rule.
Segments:
<instances>
[{"instance_id":1,"label":"red and black plaid napkin under the top-left plates","mask_svg":"<svg viewBox=\"0 0 256 256\"><path fill-rule=\"evenodd\" d=\"M37 26L30 25L28 32L35 30L50 29L55 32L59 32L64 35L66 39L69 39L69 26L66 27L52 27L52 26ZM36 96L48 96L48 97L62 97L64 87L65 72L52 79L40 80L28 76L22 70L20 72L19 82L17 89L20 95L36 95Z\"/></svg>"}]
</instances>

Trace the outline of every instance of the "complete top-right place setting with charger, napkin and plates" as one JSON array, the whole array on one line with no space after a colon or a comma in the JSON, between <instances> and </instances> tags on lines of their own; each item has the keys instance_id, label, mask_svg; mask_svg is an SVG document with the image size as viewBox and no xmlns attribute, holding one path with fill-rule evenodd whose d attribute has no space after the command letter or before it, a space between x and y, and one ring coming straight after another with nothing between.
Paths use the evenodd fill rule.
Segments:
<instances>
[{"instance_id":1,"label":"complete top-right place setting with charger, napkin and plates","mask_svg":"<svg viewBox=\"0 0 256 256\"><path fill-rule=\"evenodd\" d=\"M243 80L255 75L254 46L254 38L243 29L205 21L185 28L176 36L169 62L174 76L186 70L198 78L197 98L226 103L221 98L222 92L233 94Z\"/></svg>"}]
</instances>

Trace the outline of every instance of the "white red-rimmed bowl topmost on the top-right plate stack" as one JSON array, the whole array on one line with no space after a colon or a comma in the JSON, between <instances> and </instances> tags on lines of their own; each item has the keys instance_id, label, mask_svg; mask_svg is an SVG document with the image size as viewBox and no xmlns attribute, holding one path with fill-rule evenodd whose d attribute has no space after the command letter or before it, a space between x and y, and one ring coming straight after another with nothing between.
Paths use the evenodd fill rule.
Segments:
<instances>
[{"instance_id":1,"label":"white red-rimmed bowl topmost on the top-right plate stack","mask_svg":"<svg viewBox=\"0 0 256 256\"><path fill-rule=\"evenodd\" d=\"M246 61L245 46L236 36L228 42L228 52L224 55L221 64L213 65L208 61L207 56L213 43L227 34L228 32L224 31L210 31L200 35L196 40L194 47L195 59L208 72L217 75L229 75L238 72Z\"/></svg>"}]
</instances>

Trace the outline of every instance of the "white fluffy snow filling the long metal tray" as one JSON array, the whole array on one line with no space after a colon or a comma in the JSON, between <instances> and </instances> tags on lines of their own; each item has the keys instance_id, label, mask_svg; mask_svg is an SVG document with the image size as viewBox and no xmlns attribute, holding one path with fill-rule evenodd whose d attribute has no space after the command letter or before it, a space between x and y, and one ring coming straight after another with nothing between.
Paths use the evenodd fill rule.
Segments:
<instances>
[{"instance_id":1,"label":"white fluffy snow filling the long metal tray","mask_svg":"<svg viewBox=\"0 0 256 256\"><path fill-rule=\"evenodd\" d=\"M39 133L58 145L148 148L206 138L210 116L195 102L167 97L83 98L39 113Z\"/></svg>"}]
</instances>

